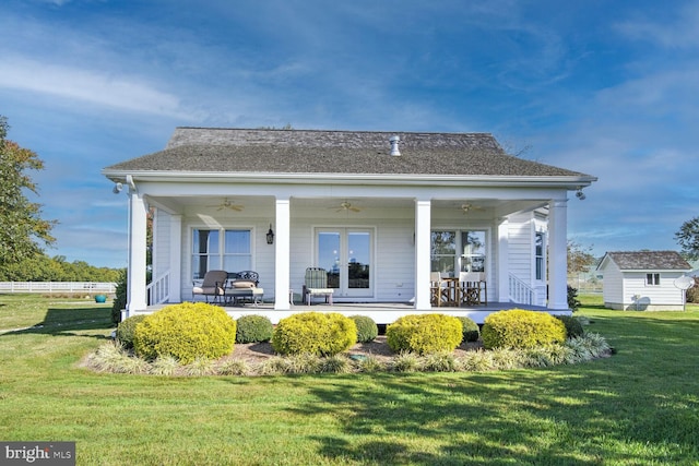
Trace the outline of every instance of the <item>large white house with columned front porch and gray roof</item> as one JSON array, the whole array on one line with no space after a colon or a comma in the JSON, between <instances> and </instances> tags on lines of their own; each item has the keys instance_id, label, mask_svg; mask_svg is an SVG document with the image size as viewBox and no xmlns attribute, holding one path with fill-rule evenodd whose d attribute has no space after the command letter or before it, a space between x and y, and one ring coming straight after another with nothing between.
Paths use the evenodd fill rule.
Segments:
<instances>
[{"instance_id":1,"label":"large white house with columned front porch and gray roof","mask_svg":"<svg viewBox=\"0 0 699 466\"><path fill-rule=\"evenodd\" d=\"M568 193L584 199L596 180L507 155L484 133L204 128L177 128L164 151L103 175L128 188L128 314L191 300L208 270L253 270L275 321L301 309L289 290L321 266L336 309L387 304L379 323L431 311L431 271L481 272L490 310L568 312Z\"/></svg>"}]
</instances>

